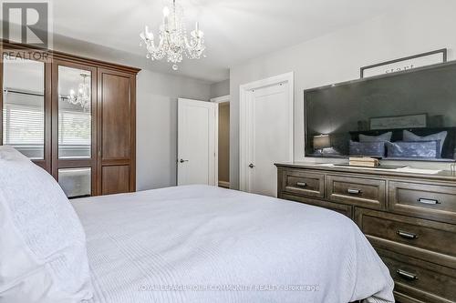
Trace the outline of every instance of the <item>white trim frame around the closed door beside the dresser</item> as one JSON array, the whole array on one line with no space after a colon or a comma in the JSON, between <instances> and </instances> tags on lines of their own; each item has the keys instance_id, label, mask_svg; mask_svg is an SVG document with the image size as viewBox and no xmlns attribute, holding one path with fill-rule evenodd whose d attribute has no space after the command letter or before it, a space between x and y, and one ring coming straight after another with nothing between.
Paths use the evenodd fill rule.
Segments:
<instances>
[{"instance_id":1,"label":"white trim frame around the closed door beside the dresser","mask_svg":"<svg viewBox=\"0 0 456 303\"><path fill-rule=\"evenodd\" d=\"M295 73L290 72L283 75L272 76L263 80L254 81L242 86L239 86L240 89L240 121L239 121L239 189L242 191L247 191L247 151L248 151L248 138L247 138L247 116L248 106L247 106L247 92L263 88L266 86L275 86L279 84L287 83L288 84L288 104L286 105L286 110L290 116L288 121L289 134L288 142L290 147L289 161L293 161L295 154Z\"/></svg>"}]
</instances>

